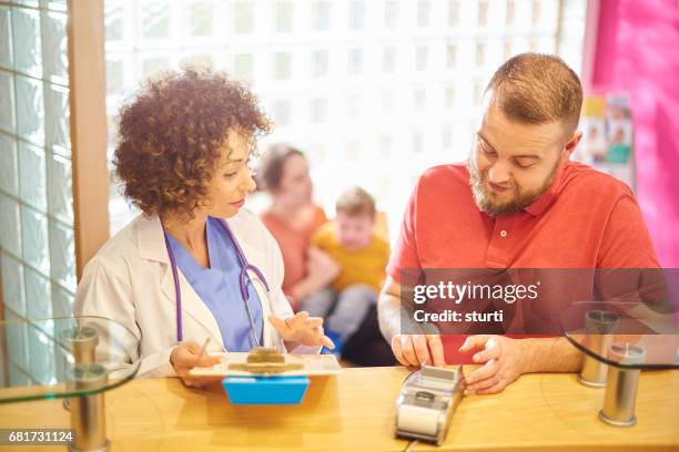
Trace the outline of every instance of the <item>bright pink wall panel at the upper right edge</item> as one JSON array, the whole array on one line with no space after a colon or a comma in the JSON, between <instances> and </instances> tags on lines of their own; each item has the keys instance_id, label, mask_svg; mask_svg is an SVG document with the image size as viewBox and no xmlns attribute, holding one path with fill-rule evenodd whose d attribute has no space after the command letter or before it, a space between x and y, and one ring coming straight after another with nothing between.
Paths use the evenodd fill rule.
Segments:
<instances>
[{"instance_id":1,"label":"bright pink wall panel at the upper right edge","mask_svg":"<svg viewBox=\"0 0 679 452\"><path fill-rule=\"evenodd\" d=\"M601 0L591 84L628 93L637 196L663 267L679 267L679 0Z\"/></svg>"}]
</instances>

